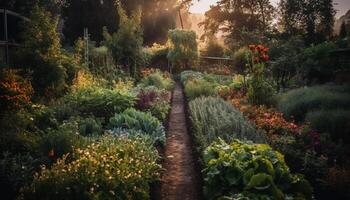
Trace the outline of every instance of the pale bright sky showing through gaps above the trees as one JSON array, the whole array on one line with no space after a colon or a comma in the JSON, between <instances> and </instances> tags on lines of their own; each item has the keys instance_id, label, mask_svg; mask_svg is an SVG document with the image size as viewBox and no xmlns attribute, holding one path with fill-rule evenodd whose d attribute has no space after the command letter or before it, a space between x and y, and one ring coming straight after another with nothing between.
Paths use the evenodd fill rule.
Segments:
<instances>
[{"instance_id":1,"label":"pale bright sky showing through gaps above the trees","mask_svg":"<svg viewBox=\"0 0 350 200\"><path fill-rule=\"evenodd\" d=\"M205 13L205 11L209 10L210 5L213 5L218 0L197 0L193 1L193 6L190 8L190 12L192 13ZM279 0L271 0L274 4L279 2ZM350 0L334 0L336 3L335 9L337 10L336 17L340 17L344 15L350 9Z\"/></svg>"}]
</instances>

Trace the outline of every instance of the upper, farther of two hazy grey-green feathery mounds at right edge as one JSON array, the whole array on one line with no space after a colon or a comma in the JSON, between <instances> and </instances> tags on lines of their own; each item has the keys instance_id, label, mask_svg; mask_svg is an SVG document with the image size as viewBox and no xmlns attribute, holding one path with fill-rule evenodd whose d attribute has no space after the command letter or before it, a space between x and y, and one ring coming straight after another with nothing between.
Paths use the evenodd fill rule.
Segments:
<instances>
[{"instance_id":1,"label":"upper, farther of two hazy grey-green feathery mounds at right edge","mask_svg":"<svg viewBox=\"0 0 350 200\"><path fill-rule=\"evenodd\" d=\"M310 111L350 108L347 86L314 86L291 90L280 97L278 109L288 118L303 121Z\"/></svg>"}]
</instances>

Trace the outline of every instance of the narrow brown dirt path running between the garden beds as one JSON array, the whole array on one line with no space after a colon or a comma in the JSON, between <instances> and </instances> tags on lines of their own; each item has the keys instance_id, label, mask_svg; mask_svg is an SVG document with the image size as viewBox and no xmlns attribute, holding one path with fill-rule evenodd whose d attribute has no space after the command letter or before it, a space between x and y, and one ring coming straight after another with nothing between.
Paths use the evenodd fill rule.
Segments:
<instances>
[{"instance_id":1,"label":"narrow brown dirt path running between the garden beds","mask_svg":"<svg viewBox=\"0 0 350 200\"><path fill-rule=\"evenodd\" d=\"M200 196L199 172L192 155L184 104L182 87L177 83L173 92L165 149L166 172L161 187L163 200L197 200Z\"/></svg>"}]
</instances>

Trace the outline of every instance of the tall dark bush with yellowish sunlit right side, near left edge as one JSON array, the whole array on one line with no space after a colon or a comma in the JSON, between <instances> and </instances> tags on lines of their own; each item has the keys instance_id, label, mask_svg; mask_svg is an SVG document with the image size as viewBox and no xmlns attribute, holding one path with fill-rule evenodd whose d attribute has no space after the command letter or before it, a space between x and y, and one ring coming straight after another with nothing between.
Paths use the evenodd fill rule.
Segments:
<instances>
[{"instance_id":1,"label":"tall dark bush with yellowish sunlit right side, near left edge","mask_svg":"<svg viewBox=\"0 0 350 200\"><path fill-rule=\"evenodd\" d=\"M61 96L66 89L66 70L62 66L58 19L35 6L22 33L20 63L33 71L32 84L37 95Z\"/></svg>"}]
</instances>

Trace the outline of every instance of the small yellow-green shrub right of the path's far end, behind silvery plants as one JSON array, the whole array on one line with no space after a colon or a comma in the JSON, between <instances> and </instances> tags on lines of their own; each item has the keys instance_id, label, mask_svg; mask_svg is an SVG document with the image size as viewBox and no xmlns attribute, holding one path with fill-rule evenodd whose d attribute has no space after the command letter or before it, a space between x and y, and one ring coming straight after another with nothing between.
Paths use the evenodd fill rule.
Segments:
<instances>
[{"instance_id":1,"label":"small yellow-green shrub right of the path's far end, behind silvery plants","mask_svg":"<svg viewBox=\"0 0 350 200\"><path fill-rule=\"evenodd\" d=\"M189 100L200 96L215 96L215 85L203 79L188 80L185 83L185 94Z\"/></svg>"}]
</instances>

